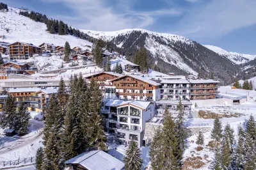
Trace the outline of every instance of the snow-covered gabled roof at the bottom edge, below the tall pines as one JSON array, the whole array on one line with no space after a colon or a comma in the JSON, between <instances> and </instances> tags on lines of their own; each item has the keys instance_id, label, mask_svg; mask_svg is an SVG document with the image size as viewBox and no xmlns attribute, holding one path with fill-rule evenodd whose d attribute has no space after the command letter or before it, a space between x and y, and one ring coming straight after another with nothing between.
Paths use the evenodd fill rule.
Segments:
<instances>
[{"instance_id":1,"label":"snow-covered gabled roof at the bottom edge, below the tall pines","mask_svg":"<svg viewBox=\"0 0 256 170\"><path fill-rule=\"evenodd\" d=\"M101 150L81 153L67 160L65 164L80 164L89 170L121 170L124 168L123 162Z\"/></svg>"}]
</instances>

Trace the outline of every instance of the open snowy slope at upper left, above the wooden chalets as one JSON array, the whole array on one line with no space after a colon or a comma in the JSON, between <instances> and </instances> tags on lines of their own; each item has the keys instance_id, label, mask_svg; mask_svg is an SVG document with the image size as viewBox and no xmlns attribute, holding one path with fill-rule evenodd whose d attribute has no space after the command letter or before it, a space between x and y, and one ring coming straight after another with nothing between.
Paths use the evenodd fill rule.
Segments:
<instances>
[{"instance_id":1,"label":"open snowy slope at upper left, above the wooden chalets","mask_svg":"<svg viewBox=\"0 0 256 170\"><path fill-rule=\"evenodd\" d=\"M65 42L69 42L71 47L81 47L84 45L92 45L92 43L76 38L70 35L52 35L47 33L46 25L41 22L35 22L28 17L19 15L19 10L9 8L9 12L0 12L0 19L2 28L0 28L0 35L5 35L6 39L0 41L4 42L28 42L34 45L42 43L53 43L54 45L64 46ZM6 28L10 29L9 33Z\"/></svg>"}]
</instances>

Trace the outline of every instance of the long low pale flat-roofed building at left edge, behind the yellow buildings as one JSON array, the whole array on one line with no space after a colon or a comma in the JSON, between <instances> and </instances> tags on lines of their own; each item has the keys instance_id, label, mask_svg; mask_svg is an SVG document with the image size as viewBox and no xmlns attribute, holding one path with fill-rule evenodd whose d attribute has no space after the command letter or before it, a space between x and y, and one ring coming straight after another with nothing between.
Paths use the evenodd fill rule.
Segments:
<instances>
[{"instance_id":1,"label":"long low pale flat-roofed building at left edge, behind the yellow buildings","mask_svg":"<svg viewBox=\"0 0 256 170\"><path fill-rule=\"evenodd\" d=\"M70 79L64 77L63 81L68 86ZM4 79L0 81L0 90L8 90L10 88L43 88L58 87L60 78L54 79Z\"/></svg>"}]
</instances>

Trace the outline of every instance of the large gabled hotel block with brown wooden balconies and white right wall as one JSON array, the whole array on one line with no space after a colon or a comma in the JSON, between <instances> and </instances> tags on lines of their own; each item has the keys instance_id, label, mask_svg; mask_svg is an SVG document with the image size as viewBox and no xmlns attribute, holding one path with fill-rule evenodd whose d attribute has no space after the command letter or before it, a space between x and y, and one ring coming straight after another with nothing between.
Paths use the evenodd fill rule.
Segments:
<instances>
[{"instance_id":1,"label":"large gabled hotel block with brown wooden balconies and white right wall","mask_svg":"<svg viewBox=\"0 0 256 170\"><path fill-rule=\"evenodd\" d=\"M116 93L116 98L152 101L160 99L161 84L140 75L123 75L111 82L112 87L108 88L113 88L111 91Z\"/></svg>"}]
</instances>

